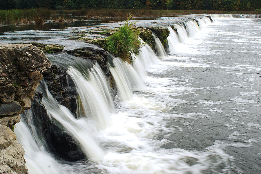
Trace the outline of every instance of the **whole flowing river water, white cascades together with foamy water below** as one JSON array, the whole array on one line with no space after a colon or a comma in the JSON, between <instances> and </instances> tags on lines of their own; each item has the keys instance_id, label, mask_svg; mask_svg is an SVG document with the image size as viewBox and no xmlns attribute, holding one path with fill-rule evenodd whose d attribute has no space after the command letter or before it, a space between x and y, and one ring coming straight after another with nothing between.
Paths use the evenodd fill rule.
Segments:
<instances>
[{"instance_id":1,"label":"whole flowing river water, white cascades together with foamy water below","mask_svg":"<svg viewBox=\"0 0 261 174\"><path fill-rule=\"evenodd\" d=\"M41 82L48 114L90 158L65 162L48 153L37 128L30 125L28 110L31 128L21 121L15 133L29 173L260 173L261 19L213 19L200 20L200 27L189 20L186 30L177 25L178 35L169 28L166 56L157 57L144 45L133 67L113 58L109 69L118 88L114 101L98 65L86 70L88 77L68 67L81 99L94 101L95 106L86 104L86 112L95 118L75 119ZM136 25L168 27L177 20L186 21L159 18ZM4 32L1 42L37 40L63 43L67 49L82 47L88 44L66 38L73 30L85 29ZM59 56L48 58L55 62Z\"/></svg>"}]
</instances>

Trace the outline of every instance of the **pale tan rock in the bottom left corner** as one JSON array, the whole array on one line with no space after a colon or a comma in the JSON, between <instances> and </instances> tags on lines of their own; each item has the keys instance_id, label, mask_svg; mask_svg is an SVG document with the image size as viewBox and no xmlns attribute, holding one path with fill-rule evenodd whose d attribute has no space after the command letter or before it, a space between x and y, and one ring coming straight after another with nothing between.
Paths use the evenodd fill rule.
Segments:
<instances>
[{"instance_id":1,"label":"pale tan rock in the bottom left corner","mask_svg":"<svg viewBox=\"0 0 261 174\"><path fill-rule=\"evenodd\" d=\"M27 173L25 166L24 150L17 138L6 126L0 125L0 173Z\"/></svg>"}]
</instances>

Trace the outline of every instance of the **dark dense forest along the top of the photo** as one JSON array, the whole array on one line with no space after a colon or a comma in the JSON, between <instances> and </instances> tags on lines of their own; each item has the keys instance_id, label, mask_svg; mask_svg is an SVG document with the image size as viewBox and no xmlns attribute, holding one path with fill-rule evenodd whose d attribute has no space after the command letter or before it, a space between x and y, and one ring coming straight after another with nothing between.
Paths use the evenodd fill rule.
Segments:
<instances>
[{"instance_id":1,"label":"dark dense forest along the top of the photo","mask_svg":"<svg viewBox=\"0 0 261 174\"><path fill-rule=\"evenodd\" d=\"M258 10L261 0L0 0L0 9L47 8L75 10L80 8L163 9L163 10Z\"/></svg>"}]
</instances>

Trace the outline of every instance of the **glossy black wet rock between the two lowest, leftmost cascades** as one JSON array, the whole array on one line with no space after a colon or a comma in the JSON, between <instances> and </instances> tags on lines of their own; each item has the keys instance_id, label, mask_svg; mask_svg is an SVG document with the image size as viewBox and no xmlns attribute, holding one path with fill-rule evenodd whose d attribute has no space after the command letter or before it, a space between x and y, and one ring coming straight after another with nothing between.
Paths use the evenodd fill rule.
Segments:
<instances>
[{"instance_id":1,"label":"glossy black wet rock between the two lowest, leftmost cascades","mask_svg":"<svg viewBox=\"0 0 261 174\"><path fill-rule=\"evenodd\" d=\"M77 142L64 131L64 127L57 122L55 123L55 120L50 120L47 110L41 103L42 97L41 92L35 93L34 101L32 101L32 113L37 133L45 139L47 149L59 158L68 161L86 158Z\"/></svg>"}]
</instances>

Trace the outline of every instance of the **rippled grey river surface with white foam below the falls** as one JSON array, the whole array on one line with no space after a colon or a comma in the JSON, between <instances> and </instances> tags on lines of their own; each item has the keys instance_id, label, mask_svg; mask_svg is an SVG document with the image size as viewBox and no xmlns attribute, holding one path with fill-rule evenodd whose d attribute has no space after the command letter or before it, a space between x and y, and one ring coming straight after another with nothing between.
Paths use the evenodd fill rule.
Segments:
<instances>
[{"instance_id":1,"label":"rippled grey river surface with white foam below the falls","mask_svg":"<svg viewBox=\"0 0 261 174\"><path fill-rule=\"evenodd\" d=\"M173 20L162 18L157 22L165 25ZM154 25L152 22L144 23ZM161 58L148 70L146 89L134 91L130 100L115 101L110 125L95 133L105 151L104 160L63 162L64 170L260 173L260 28L260 19L215 18L215 23L177 45L182 49ZM41 35L41 41L54 43L61 38L45 39L49 37L45 33L61 33L66 40L78 29L86 30L69 27L33 33ZM32 41L26 33L22 40ZM12 37L21 39L19 32L1 37L3 42L14 42ZM73 43L76 47L85 44Z\"/></svg>"}]
</instances>

